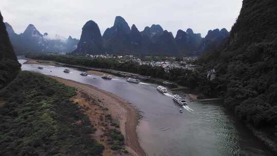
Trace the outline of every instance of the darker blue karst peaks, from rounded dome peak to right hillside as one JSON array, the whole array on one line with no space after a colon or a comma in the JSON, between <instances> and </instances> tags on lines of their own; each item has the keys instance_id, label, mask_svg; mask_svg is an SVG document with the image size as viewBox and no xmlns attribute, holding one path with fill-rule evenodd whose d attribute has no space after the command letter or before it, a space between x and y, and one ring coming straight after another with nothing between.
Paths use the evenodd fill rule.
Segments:
<instances>
[{"instance_id":1,"label":"darker blue karst peaks, from rounded dome peak to right hillside","mask_svg":"<svg viewBox=\"0 0 277 156\"><path fill-rule=\"evenodd\" d=\"M98 25L88 21L82 31L80 42L74 54L155 54L155 55L197 55L215 49L229 36L226 29L210 30L206 37L192 29L178 30L174 37L160 25L145 27L139 31L135 25L130 28L125 19L116 16L114 25L107 28L101 37Z\"/></svg>"}]
</instances>

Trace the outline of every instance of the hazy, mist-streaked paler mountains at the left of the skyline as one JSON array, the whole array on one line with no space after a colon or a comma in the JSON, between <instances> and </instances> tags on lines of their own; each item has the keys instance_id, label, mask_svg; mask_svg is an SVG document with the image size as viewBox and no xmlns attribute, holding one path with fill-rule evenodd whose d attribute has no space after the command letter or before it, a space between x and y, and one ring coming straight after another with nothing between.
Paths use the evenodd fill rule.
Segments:
<instances>
[{"instance_id":1,"label":"hazy, mist-streaked paler mountains at the left of the skyline","mask_svg":"<svg viewBox=\"0 0 277 156\"><path fill-rule=\"evenodd\" d=\"M25 52L72 52L77 48L77 39L59 35L50 37L48 33L41 34L30 24L21 34L16 34L11 25L5 23L11 43L17 54Z\"/></svg>"}]
</instances>

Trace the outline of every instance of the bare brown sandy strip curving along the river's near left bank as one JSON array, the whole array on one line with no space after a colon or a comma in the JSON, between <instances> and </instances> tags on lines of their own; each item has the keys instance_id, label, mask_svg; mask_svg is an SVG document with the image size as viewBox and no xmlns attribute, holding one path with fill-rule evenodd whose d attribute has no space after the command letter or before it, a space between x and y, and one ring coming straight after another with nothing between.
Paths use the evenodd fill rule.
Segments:
<instances>
[{"instance_id":1,"label":"bare brown sandy strip curving along the river's near left bank","mask_svg":"<svg viewBox=\"0 0 277 156\"><path fill-rule=\"evenodd\" d=\"M91 99L96 100L96 102L100 104L101 108L108 108L108 113L111 114L112 118L120 125L120 131L125 136L125 148L130 152L129 154L125 155L146 155L138 142L138 137L136 134L136 126L138 124L138 120L140 119L140 115L138 114L138 111L136 111L136 109L131 106L130 103L112 93L100 90L87 84L82 84L55 76L50 77L67 86L75 87L77 89L78 94L75 99L73 99L73 101L78 102L77 104L85 106L85 108L89 108L87 109L86 114L90 116L92 124L96 125L96 127L100 124L95 124L95 121L93 121L95 119L95 110L97 110L98 114L102 114L103 112L101 112L100 109L95 108L95 106L89 105L82 98L84 96L91 97ZM104 127L98 128L103 129ZM105 129L103 130L105 131ZM101 131L99 131L99 134L101 134ZM95 137L97 139L97 136ZM108 146L103 139L98 138L98 140L100 140L100 142L103 143L104 146ZM103 154L117 155L116 153L113 153L110 149L105 150Z\"/></svg>"}]
</instances>

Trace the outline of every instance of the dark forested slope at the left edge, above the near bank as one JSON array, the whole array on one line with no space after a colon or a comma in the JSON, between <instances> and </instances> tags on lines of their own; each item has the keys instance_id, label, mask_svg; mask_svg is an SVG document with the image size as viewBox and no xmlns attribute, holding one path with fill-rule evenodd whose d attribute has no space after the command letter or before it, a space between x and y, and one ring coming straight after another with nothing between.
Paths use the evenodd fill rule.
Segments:
<instances>
[{"instance_id":1,"label":"dark forested slope at the left edge, above the near bank","mask_svg":"<svg viewBox=\"0 0 277 156\"><path fill-rule=\"evenodd\" d=\"M20 67L0 12L0 89L16 77Z\"/></svg>"}]
</instances>

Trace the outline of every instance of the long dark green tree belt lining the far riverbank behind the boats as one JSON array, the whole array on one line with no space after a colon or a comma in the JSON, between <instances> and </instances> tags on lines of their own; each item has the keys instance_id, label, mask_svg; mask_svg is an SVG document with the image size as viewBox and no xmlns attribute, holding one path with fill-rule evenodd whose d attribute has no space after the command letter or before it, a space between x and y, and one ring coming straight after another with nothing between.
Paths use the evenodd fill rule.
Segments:
<instances>
[{"instance_id":1,"label":"long dark green tree belt lining the far riverbank behind the boats","mask_svg":"<svg viewBox=\"0 0 277 156\"><path fill-rule=\"evenodd\" d=\"M208 81L206 73L199 73L197 71L182 70L173 68L166 72L163 67L152 67L149 65L140 66L136 62L128 61L124 63L118 62L113 58L90 58L82 56L71 55L56 55L56 54L28 54L29 59L55 61L69 65L79 65L92 68L105 68L118 71L125 71L136 73L144 76L151 76L154 78L164 79L176 82L179 85L187 86L190 89L201 90L207 95L219 94L219 89L215 89L217 81Z\"/></svg>"}]
</instances>

